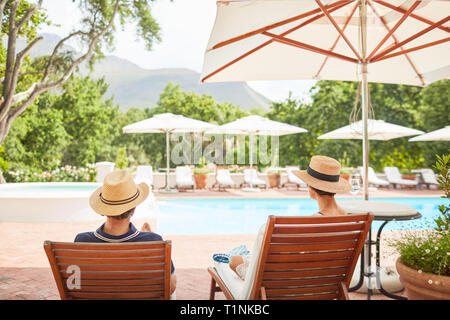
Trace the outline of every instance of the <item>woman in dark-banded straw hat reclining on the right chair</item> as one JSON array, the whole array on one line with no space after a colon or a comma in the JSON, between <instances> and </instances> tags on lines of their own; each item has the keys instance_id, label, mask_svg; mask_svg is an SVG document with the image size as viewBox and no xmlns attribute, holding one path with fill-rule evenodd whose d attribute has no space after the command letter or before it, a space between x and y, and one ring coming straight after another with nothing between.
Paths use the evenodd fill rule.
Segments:
<instances>
[{"instance_id":1,"label":"woman in dark-banded straw hat reclining on the right chair","mask_svg":"<svg viewBox=\"0 0 450 320\"><path fill-rule=\"evenodd\" d=\"M340 177L341 164L336 159L326 156L313 156L306 170L293 173L308 185L309 196L319 205L314 216L339 216L347 213L339 207L334 199L336 193L350 191L350 183ZM247 273L250 255L237 255L230 258L229 266L241 278Z\"/></svg>"}]
</instances>

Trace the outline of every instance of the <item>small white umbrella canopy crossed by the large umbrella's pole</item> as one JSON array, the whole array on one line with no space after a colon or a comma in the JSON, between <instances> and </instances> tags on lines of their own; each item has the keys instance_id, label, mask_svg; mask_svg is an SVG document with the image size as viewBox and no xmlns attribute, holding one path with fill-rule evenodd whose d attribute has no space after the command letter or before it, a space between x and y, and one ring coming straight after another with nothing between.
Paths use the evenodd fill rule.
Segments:
<instances>
[{"instance_id":1,"label":"small white umbrella canopy crossed by the large umbrella's pole","mask_svg":"<svg viewBox=\"0 0 450 320\"><path fill-rule=\"evenodd\" d=\"M384 122L383 120L368 119L369 140L391 140L401 137L414 136L424 133L423 131L411 129L397 124ZM362 139L363 122L357 121L348 126L330 131L318 137L318 139Z\"/></svg>"}]
</instances>

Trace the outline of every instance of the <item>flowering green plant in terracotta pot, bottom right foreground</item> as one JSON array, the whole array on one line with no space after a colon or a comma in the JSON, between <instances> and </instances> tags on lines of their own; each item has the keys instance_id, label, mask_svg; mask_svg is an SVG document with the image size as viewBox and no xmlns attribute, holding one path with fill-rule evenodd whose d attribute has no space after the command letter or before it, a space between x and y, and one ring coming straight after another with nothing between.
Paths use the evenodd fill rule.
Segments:
<instances>
[{"instance_id":1,"label":"flowering green plant in terracotta pot, bottom right foreground","mask_svg":"<svg viewBox=\"0 0 450 320\"><path fill-rule=\"evenodd\" d=\"M444 204L432 230L410 231L391 241L399 253L396 267L408 299L450 299L450 155L438 157L439 188Z\"/></svg>"}]
</instances>

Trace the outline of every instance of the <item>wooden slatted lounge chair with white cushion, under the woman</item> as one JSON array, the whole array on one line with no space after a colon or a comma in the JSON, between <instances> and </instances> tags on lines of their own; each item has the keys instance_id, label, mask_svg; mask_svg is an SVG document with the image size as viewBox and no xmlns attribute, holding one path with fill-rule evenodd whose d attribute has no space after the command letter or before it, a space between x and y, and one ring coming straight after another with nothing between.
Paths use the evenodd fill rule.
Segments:
<instances>
[{"instance_id":1,"label":"wooden slatted lounge chair with white cushion, under the woman","mask_svg":"<svg viewBox=\"0 0 450 320\"><path fill-rule=\"evenodd\" d=\"M348 299L348 286L372 220L370 213L269 216L255 241L245 280L236 276L230 283L230 275L221 276L220 268L208 268L210 299L218 291L227 299ZM218 264L233 273L227 264Z\"/></svg>"}]
</instances>

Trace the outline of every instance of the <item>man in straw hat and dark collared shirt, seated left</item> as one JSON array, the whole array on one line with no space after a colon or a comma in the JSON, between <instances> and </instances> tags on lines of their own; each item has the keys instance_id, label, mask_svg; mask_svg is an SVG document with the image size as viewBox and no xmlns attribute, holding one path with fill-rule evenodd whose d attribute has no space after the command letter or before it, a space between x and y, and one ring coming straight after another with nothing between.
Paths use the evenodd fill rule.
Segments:
<instances>
[{"instance_id":1,"label":"man in straw hat and dark collared shirt, seated left","mask_svg":"<svg viewBox=\"0 0 450 320\"><path fill-rule=\"evenodd\" d=\"M106 222L94 232L83 232L75 237L75 242L145 242L162 241L163 238L151 232L150 225L144 223L141 231L130 222L136 207L149 194L146 183L136 185L126 170L117 170L106 175L103 186L94 191L89 204L95 212L106 216ZM175 267L171 263L170 290L175 291Z\"/></svg>"}]
</instances>

